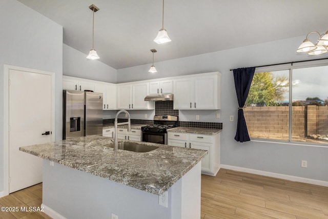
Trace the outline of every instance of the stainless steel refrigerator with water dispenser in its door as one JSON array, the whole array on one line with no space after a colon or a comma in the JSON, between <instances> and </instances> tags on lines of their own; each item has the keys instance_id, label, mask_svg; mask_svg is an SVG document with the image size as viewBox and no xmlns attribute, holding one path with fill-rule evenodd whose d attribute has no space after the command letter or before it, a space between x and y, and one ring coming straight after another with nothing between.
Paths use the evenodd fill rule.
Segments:
<instances>
[{"instance_id":1,"label":"stainless steel refrigerator with water dispenser in its door","mask_svg":"<svg viewBox=\"0 0 328 219\"><path fill-rule=\"evenodd\" d=\"M63 90L63 140L103 135L103 93Z\"/></svg>"}]
</instances>

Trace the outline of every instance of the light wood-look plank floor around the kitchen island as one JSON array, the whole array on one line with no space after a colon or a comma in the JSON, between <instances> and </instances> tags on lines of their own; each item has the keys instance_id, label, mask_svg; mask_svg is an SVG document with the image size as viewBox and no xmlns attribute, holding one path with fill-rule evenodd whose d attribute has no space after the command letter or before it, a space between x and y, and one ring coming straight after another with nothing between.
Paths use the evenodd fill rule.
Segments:
<instances>
[{"instance_id":1,"label":"light wood-look plank floor around the kitchen island","mask_svg":"<svg viewBox=\"0 0 328 219\"><path fill-rule=\"evenodd\" d=\"M0 207L41 203L42 184L0 198ZM50 217L18 211L0 212L0 218ZM201 176L200 218L328 218L328 187L220 169L216 176Z\"/></svg>"}]
</instances>

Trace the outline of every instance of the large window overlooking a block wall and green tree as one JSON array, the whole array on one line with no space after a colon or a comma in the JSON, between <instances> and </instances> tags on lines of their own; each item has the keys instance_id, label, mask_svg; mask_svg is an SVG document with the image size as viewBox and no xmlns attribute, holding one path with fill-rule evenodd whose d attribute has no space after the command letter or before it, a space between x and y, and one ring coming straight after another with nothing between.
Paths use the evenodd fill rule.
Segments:
<instances>
[{"instance_id":1,"label":"large window overlooking a block wall and green tree","mask_svg":"<svg viewBox=\"0 0 328 219\"><path fill-rule=\"evenodd\" d=\"M254 74L244 115L250 137L328 144L328 66Z\"/></svg>"}]
</instances>

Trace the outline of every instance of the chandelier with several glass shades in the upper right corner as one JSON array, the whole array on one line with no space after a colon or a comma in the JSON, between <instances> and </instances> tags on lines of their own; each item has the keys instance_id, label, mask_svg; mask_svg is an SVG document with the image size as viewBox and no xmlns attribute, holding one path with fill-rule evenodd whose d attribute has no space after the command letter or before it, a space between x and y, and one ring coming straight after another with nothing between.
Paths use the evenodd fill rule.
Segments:
<instances>
[{"instance_id":1,"label":"chandelier with several glass shades in the upper right corner","mask_svg":"<svg viewBox=\"0 0 328 219\"><path fill-rule=\"evenodd\" d=\"M308 36L312 33L317 33L319 35L316 45L314 45L308 38ZM307 52L308 55L321 55L328 52L328 31L322 35L317 31L308 33L296 52Z\"/></svg>"}]
</instances>

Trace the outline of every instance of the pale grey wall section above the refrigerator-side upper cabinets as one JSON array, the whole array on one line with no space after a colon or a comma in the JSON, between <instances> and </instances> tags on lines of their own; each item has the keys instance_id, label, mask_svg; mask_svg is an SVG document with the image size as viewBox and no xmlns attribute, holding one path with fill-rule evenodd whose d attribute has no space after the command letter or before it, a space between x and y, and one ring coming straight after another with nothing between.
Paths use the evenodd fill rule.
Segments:
<instances>
[{"instance_id":1,"label":"pale grey wall section above the refrigerator-side upper cabinets","mask_svg":"<svg viewBox=\"0 0 328 219\"><path fill-rule=\"evenodd\" d=\"M63 45L63 75L116 83L116 69L102 63L101 58L89 60L87 54L66 44Z\"/></svg>"}]
</instances>

